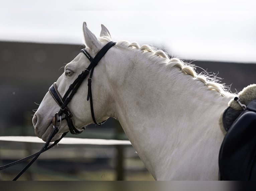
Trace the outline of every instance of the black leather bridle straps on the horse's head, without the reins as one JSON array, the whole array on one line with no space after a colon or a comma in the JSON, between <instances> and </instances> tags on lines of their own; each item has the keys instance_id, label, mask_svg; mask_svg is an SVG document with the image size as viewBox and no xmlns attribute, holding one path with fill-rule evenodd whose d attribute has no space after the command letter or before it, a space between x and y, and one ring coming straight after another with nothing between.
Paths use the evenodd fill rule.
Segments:
<instances>
[{"instance_id":1,"label":"black leather bridle straps on the horse's head, without the reins","mask_svg":"<svg viewBox=\"0 0 256 191\"><path fill-rule=\"evenodd\" d=\"M88 74L90 73L90 76L88 78L88 95L87 95L87 100L90 99L90 106L91 106L91 113L92 113L92 118L95 124L97 125L101 125L103 124L105 121L97 123L95 116L94 116L94 111L93 111L93 98L92 98L92 76L93 76L93 71L94 68L97 66L97 64L99 63L99 61L102 59L102 57L107 53L107 51L114 46L116 43L115 42L109 42L107 43L97 54L94 58L91 57L91 55L85 50L82 49L81 52L84 53L84 55L89 59L89 61L91 62L91 64L88 66L87 69L85 69L78 77L77 79L73 82L73 84L71 84L69 86L68 91L65 93L65 95L63 97L61 97L61 95L59 94L58 90L57 90L57 86L56 83L54 83L50 88L49 88L49 92L50 95L53 97L53 99L58 103L58 105L60 106L60 110L58 113L54 114L53 120L56 120L56 115L58 115L61 119L66 119L68 126L69 126L69 130L72 134L80 134L81 132L83 132L83 130L85 129L85 127L83 127L82 129L78 129L75 124L74 124L74 120L71 118L72 117L72 113L70 111L70 109L68 108L68 104L71 101L72 97L76 94L78 88L81 86L82 82L86 79L86 77L88 76ZM62 114L65 115L64 118L61 118Z\"/></svg>"}]
</instances>

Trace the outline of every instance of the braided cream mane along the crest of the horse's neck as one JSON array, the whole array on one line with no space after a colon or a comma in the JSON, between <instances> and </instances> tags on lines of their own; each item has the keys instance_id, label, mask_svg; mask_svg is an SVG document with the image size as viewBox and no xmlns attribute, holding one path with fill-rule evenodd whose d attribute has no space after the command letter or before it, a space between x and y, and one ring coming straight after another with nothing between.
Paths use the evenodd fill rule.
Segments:
<instances>
[{"instance_id":1,"label":"braided cream mane along the crest of the horse's neck","mask_svg":"<svg viewBox=\"0 0 256 191\"><path fill-rule=\"evenodd\" d=\"M159 63L165 63L166 66L176 67L180 69L184 74L194 77L196 80L203 82L209 90L214 90L224 96L227 92L226 87L220 84L218 78L215 75L209 75L206 71L205 74L197 74L195 71L195 65L185 63L178 58L170 58L164 51L157 50L149 45L139 46L138 43L130 43L128 41L121 41L117 43L117 46L124 48L134 49L136 51L141 51L141 53L151 53L150 56L158 57ZM164 62L163 62L164 61Z\"/></svg>"}]
</instances>

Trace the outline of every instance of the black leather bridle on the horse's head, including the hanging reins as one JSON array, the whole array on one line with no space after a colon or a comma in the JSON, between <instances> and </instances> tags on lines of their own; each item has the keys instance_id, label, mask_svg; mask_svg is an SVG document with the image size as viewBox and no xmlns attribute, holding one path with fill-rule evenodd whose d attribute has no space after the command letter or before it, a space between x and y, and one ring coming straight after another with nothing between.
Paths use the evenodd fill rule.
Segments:
<instances>
[{"instance_id":1,"label":"black leather bridle on the horse's head, including the hanging reins","mask_svg":"<svg viewBox=\"0 0 256 191\"><path fill-rule=\"evenodd\" d=\"M53 83L53 85L49 88L49 92L51 94L51 96L53 97L53 99L58 103L58 105L60 106L60 110L59 112L55 113L53 115L53 119L52 119L52 126L53 126L53 130L50 134L50 136L48 137L47 141L45 142L44 146L41 148L41 150L37 153L34 153L30 156L27 156L23 159L14 161L10 164L4 165L4 166L0 166L0 170L8 168L10 166L13 166L15 164L18 164L20 162L26 161L32 157L34 157L28 164L27 166L25 166L25 168L23 168L22 171L20 171L20 173L13 179L13 180L17 180L28 168L29 166L31 166L31 164L39 157L39 155L50 149L51 147L53 147L54 145L56 145L68 132L65 132L61 135L61 137L54 141L53 144L51 144L49 146L49 143L51 142L51 139L57 134L59 127L61 126L61 121L63 119L66 119L68 126L69 126L69 130L72 134L80 134L81 132L83 132L83 130L85 129L85 127L83 127L82 129L78 129L75 124L74 124L74 120L71 118L72 117L72 113L68 108L68 104L71 101L72 97L76 94L78 88L81 86L82 82L86 79L86 77L88 76L88 74L90 73L90 76L88 78L88 95L87 95L87 100L90 99L90 106L91 106L91 113L92 113L92 118L95 124L97 125L101 125L103 124L105 121L97 123L95 116L94 116L94 111L93 111L93 98L92 98L92 76L93 76L93 71L94 68L98 65L99 61L102 59L102 57L107 53L107 51L114 46L116 43L115 42L109 42L107 43L97 54L94 58L91 57L91 55L85 50L82 49L80 52L84 53L84 55L89 59L89 61L91 62L90 65L87 67L87 69L85 69L78 77L77 79L73 82L73 84L71 84L69 86L68 91L65 93L65 95L63 97L61 97L61 95L59 94L58 90L57 90L57 86L56 83ZM64 118L61 118L62 114L65 115ZM59 120L57 120L57 115L59 116ZM56 126L56 123L59 122L59 125Z\"/></svg>"}]
</instances>

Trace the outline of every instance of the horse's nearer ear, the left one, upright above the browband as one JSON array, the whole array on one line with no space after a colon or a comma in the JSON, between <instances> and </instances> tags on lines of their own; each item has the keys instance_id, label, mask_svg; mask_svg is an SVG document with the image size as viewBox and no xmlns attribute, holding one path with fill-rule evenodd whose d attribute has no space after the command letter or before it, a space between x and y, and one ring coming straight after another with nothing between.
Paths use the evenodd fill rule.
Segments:
<instances>
[{"instance_id":1,"label":"horse's nearer ear, the left one, upright above the browband","mask_svg":"<svg viewBox=\"0 0 256 191\"><path fill-rule=\"evenodd\" d=\"M85 44L93 51L101 49L101 42L98 38L88 29L86 22L83 23L83 31L85 37Z\"/></svg>"}]
</instances>

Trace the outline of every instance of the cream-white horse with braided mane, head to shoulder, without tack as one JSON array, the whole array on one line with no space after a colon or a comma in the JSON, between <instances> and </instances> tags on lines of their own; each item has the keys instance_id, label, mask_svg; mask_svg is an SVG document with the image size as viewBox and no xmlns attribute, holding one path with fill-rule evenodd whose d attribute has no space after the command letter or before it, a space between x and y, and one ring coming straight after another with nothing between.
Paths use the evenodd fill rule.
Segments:
<instances>
[{"instance_id":1,"label":"cream-white horse with braided mane, head to shoulder, without tack","mask_svg":"<svg viewBox=\"0 0 256 191\"><path fill-rule=\"evenodd\" d=\"M102 25L97 38L83 25L86 50L95 56L109 41ZM65 67L56 85L63 96L89 65L83 53ZM77 127L93 123L84 82L69 103ZM155 180L218 180L218 154L224 133L220 113L235 95L193 67L161 50L127 41L118 42L93 74L96 121L119 120L134 149ZM46 93L33 117L35 134L46 141L59 106ZM69 131L62 122L58 139Z\"/></svg>"}]
</instances>

